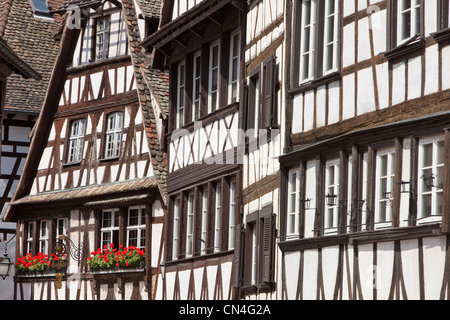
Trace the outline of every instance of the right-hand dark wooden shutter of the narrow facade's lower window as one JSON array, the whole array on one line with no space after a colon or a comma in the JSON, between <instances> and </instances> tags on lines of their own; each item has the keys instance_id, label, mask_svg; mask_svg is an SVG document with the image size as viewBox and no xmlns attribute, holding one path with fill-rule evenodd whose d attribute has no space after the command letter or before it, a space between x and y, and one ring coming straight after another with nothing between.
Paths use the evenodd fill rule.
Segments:
<instances>
[{"instance_id":1,"label":"right-hand dark wooden shutter of the narrow facade's lower window","mask_svg":"<svg viewBox=\"0 0 450 320\"><path fill-rule=\"evenodd\" d=\"M272 213L272 206L264 208L261 210L261 244L262 244L262 260L260 263L262 265L262 282L270 283L272 282L273 275L273 251L274 251L274 240L275 240L275 226Z\"/></svg>"}]
</instances>

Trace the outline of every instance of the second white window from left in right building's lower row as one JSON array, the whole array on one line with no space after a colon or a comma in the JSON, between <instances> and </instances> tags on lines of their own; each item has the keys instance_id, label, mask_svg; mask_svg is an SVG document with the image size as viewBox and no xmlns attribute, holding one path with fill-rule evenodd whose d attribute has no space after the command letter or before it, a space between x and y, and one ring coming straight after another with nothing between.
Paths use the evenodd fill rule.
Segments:
<instances>
[{"instance_id":1,"label":"second white window from left in right building's lower row","mask_svg":"<svg viewBox=\"0 0 450 320\"><path fill-rule=\"evenodd\" d=\"M326 163L325 169L325 233L334 233L339 218L339 160ZM330 230L331 229L331 230Z\"/></svg>"}]
</instances>

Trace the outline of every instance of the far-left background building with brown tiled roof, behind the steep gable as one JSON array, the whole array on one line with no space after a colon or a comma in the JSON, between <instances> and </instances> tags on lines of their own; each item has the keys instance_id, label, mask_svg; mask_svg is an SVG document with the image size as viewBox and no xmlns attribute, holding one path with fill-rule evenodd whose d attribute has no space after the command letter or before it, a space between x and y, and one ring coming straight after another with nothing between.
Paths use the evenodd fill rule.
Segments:
<instances>
[{"instance_id":1,"label":"far-left background building with brown tiled roof, behind the steep gable","mask_svg":"<svg viewBox=\"0 0 450 320\"><path fill-rule=\"evenodd\" d=\"M39 74L39 77L27 76L26 79L12 73L2 93L0 229L14 234L15 224L6 223L2 218L17 187L28 154L29 135L39 114L59 48L55 34L60 17L50 17L48 10L36 10L35 2L39 1L0 1L2 41ZM48 1L52 6L61 3L61 0ZM7 246L9 257L14 260L15 241L12 236L8 238L3 239L3 245ZM13 278L6 278L0 287L1 297L12 299Z\"/></svg>"}]
</instances>

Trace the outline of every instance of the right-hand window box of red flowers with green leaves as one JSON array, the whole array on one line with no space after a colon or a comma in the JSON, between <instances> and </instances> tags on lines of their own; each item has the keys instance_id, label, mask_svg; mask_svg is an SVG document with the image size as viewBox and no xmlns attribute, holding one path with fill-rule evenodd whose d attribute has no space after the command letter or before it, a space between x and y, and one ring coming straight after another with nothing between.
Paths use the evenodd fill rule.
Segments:
<instances>
[{"instance_id":1,"label":"right-hand window box of red flowers with green leaves","mask_svg":"<svg viewBox=\"0 0 450 320\"><path fill-rule=\"evenodd\" d=\"M114 244L103 246L91 252L87 263L91 270L132 269L143 266L144 250L135 246L114 248Z\"/></svg>"}]
</instances>

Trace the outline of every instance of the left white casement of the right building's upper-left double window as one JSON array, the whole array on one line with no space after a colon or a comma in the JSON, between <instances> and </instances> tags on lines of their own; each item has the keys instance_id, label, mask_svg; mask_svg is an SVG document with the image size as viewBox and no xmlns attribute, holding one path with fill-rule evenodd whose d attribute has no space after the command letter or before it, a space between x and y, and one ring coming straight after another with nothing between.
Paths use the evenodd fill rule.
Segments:
<instances>
[{"instance_id":1,"label":"left white casement of the right building's upper-left double window","mask_svg":"<svg viewBox=\"0 0 450 320\"><path fill-rule=\"evenodd\" d=\"M307 3L310 4L308 10ZM317 0L302 0L301 41L300 41L300 83L312 80L315 76ZM306 19L309 14L309 20ZM307 41L309 40L309 41ZM306 60L307 57L307 60ZM308 62L308 63L306 63Z\"/></svg>"}]
</instances>

